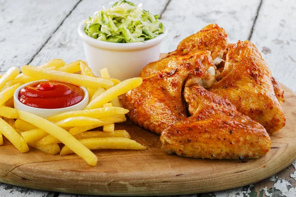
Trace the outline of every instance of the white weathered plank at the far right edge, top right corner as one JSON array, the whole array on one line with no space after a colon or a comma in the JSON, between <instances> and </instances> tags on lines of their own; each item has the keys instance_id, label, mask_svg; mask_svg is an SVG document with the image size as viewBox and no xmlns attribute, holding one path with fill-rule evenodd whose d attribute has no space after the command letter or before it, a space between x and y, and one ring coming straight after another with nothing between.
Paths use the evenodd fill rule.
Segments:
<instances>
[{"instance_id":1,"label":"white weathered plank at the far right edge, top right corner","mask_svg":"<svg viewBox=\"0 0 296 197\"><path fill-rule=\"evenodd\" d=\"M296 92L296 1L263 0L251 41L273 75Z\"/></svg>"}]
</instances>

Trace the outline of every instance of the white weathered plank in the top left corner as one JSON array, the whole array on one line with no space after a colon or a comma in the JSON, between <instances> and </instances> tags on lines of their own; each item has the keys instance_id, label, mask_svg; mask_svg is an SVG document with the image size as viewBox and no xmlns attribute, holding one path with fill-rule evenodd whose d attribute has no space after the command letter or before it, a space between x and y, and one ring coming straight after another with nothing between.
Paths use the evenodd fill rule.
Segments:
<instances>
[{"instance_id":1,"label":"white weathered plank in the top left corner","mask_svg":"<svg viewBox=\"0 0 296 197\"><path fill-rule=\"evenodd\" d=\"M78 0L0 0L0 72L28 64Z\"/></svg>"}]
</instances>

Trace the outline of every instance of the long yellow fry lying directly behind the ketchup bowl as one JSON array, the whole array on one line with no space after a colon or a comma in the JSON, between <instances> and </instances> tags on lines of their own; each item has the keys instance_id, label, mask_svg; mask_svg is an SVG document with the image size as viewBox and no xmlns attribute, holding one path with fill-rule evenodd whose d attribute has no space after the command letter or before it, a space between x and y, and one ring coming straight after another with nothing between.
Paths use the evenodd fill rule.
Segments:
<instances>
[{"instance_id":1,"label":"long yellow fry lying directly behind the ketchup bowl","mask_svg":"<svg viewBox=\"0 0 296 197\"><path fill-rule=\"evenodd\" d=\"M44 68L34 67L34 66L22 66L22 72L28 76L38 77L40 79L56 80L66 83L72 83L77 86L82 86L86 88L108 88L113 85L111 80L89 77L78 74L66 73L57 70L47 70Z\"/></svg>"}]
</instances>

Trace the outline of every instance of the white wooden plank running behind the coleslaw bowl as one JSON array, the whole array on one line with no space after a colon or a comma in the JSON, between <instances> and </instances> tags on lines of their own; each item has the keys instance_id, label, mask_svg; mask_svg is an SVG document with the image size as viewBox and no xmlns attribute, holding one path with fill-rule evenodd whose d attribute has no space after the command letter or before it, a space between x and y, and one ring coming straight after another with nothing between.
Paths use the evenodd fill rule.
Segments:
<instances>
[{"instance_id":1,"label":"white wooden plank running behind the coleslaw bowl","mask_svg":"<svg viewBox=\"0 0 296 197\"><path fill-rule=\"evenodd\" d=\"M133 0L139 4L143 0ZM152 14L160 14L164 9L167 0L144 1L143 8ZM79 23L92 16L95 11L109 5L110 0L83 0L76 9L69 15L63 25L52 35L46 45L34 58L32 65L39 65L53 58L61 58L66 63L78 59L85 60L82 40L78 36L77 28Z\"/></svg>"}]
</instances>

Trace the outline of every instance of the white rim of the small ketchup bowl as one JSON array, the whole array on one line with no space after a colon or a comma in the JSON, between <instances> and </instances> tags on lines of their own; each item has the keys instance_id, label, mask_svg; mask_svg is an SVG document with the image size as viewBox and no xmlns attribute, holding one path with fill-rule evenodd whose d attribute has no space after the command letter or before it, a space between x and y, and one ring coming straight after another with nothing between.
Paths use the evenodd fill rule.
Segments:
<instances>
[{"instance_id":1,"label":"white rim of the small ketchup bowl","mask_svg":"<svg viewBox=\"0 0 296 197\"><path fill-rule=\"evenodd\" d=\"M84 98L83 98L80 102L78 102L78 103L76 103L76 104L74 104L74 105L72 105L72 106L69 106L69 107L56 108L56 109L44 109L44 108L38 108L38 107L31 107L31 106L29 106L29 105L26 105L26 104L22 103L22 102L18 99L19 92L20 92L20 90L21 90L23 87L25 87L25 86L27 86L27 85L30 85L30 84L32 84L32 83L35 83L35 82L41 82L41 81L50 81L50 80L47 80L47 79L41 79L41 80L31 81L31 82L25 83L25 84L21 85L20 87L18 87L18 88L14 91L14 93L13 93L13 100L14 100L14 102L16 101L18 104L23 105L23 106L27 107L28 109L44 110L44 111L45 111L45 110L46 110L46 111L59 111L59 110L61 110L61 109L63 109L63 110L71 109L71 108L73 108L74 106L77 106L78 104L82 103L82 101L85 101L85 99L88 99L88 100L89 100L89 98L88 98L88 91L87 91L86 88L84 88L84 87L82 87L82 86L78 86L78 87L81 88L81 89L83 90L83 92L84 92ZM87 103L88 103L88 102L87 102Z\"/></svg>"}]
</instances>

